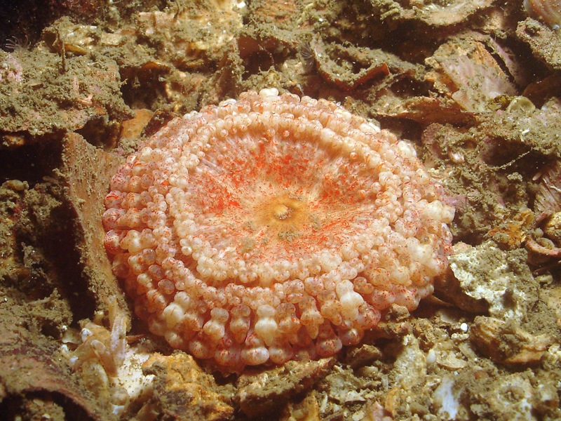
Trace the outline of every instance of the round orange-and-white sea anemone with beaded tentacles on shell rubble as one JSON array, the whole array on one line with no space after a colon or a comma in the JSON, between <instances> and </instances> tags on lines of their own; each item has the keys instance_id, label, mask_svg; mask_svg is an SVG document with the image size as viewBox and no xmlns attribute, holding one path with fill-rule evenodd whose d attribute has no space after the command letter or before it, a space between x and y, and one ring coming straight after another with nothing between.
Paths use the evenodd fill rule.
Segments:
<instances>
[{"instance_id":1,"label":"round orange-and-white sea anemone with beaded tentacles on shell rubble","mask_svg":"<svg viewBox=\"0 0 561 421\"><path fill-rule=\"evenodd\" d=\"M445 272L454 209L407 142L327 100L246 92L171 121L111 179L135 312L227 370L356 345Z\"/></svg>"}]
</instances>

